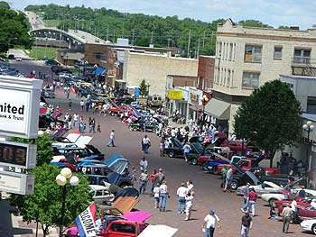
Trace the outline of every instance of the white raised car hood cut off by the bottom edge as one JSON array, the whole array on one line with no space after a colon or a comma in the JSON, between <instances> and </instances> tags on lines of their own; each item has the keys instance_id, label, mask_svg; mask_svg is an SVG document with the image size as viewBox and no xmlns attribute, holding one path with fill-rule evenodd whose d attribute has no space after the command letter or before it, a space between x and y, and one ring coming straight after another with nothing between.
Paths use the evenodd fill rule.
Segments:
<instances>
[{"instance_id":1,"label":"white raised car hood cut off by the bottom edge","mask_svg":"<svg viewBox=\"0 0 316 237\"><path fill-rule=\"evenodd\" d=\"M177 231L178 229L164 224L148 225L138 237L172 237Z\"/></svg>"}]
</instances>

